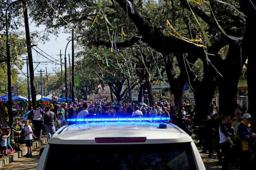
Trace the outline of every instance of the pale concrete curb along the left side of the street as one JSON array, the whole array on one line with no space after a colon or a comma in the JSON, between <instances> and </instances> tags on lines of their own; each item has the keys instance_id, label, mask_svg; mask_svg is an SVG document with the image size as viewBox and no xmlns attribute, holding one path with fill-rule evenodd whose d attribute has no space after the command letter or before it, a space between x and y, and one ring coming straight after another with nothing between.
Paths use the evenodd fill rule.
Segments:
<instances>
[{"instance_id":1,"label":"pale concrete curb along the left side of the street","mask_svg":"<svg viewBox=\"0 0 256 170\"><path fill-rule=\"evenodd\" d=\"M42 137L41 141L33 141L33 146L32 150L39 148L42 144L46 144L48 141L47 137ZM3 166L7 166L9 163L18 160L20 157L24 156L27 154L27 147L25 144L21 145L22 148L20 148L22 151L19 152L14 152L13 154L8 154L7 156L4 156L3 158L0 159L0 168Z\"/></svg>"}]
</instances>

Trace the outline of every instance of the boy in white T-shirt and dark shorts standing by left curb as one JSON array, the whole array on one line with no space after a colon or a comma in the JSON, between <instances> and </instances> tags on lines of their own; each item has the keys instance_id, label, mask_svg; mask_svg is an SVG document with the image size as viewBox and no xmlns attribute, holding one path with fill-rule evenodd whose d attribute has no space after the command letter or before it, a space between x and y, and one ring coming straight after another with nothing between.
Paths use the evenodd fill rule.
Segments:
<instances>
[{"instance_id":1,"label":"boy in white T-shirt and dark shorts standing by left curb","mask_svg":"<svg viewBox=\"0 0 256 170\"><path fill-rule=\"evenodd\" d=\"M27 158L32 158L32 139L33 139L33 131L31 126L29 125L29 120L25 120L25 143L26 147L28 148L28 153L24 156Z\"/></svg>"}]
</instances>

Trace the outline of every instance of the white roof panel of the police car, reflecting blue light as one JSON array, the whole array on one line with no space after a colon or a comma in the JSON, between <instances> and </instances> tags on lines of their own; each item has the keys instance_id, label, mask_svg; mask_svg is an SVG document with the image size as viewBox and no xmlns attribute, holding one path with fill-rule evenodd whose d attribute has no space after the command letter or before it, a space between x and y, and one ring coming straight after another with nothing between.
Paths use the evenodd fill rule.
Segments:
<instances>
[{"instance_id":1,"label":"white roof panel of the police car, reflecting blue light","mask_svg":"<svg viewBox=\"0 0 256 170\"><path fill-rule=\"evenodd\" d=\"M160 123L154 122L97 122L72 124L59 129L48 143L130 144L97 143L95 141L95 138L124 137L146 137L146 141L143 142L143 144L192 142L192 138L174 124L166 123L166 129L159 129L159 124ZM136 142L134 144L136 144Z\"/></svg>"}]
</instances>

